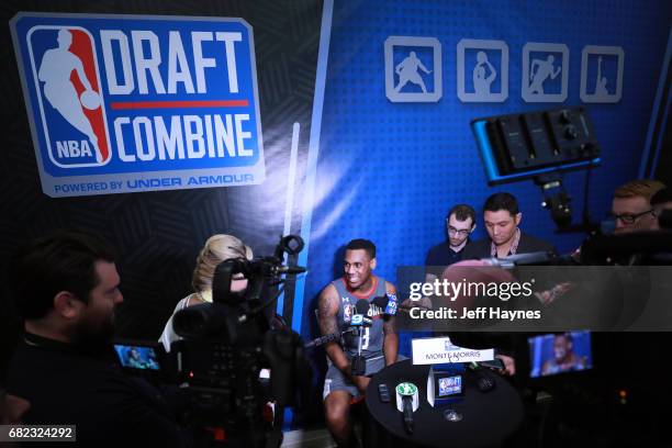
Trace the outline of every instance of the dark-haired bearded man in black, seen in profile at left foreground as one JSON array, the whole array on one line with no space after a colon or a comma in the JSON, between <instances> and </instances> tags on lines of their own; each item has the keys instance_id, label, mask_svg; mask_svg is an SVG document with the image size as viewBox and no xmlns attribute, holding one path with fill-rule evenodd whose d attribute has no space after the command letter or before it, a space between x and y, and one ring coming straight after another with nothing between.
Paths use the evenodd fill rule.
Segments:
<instances>
[{"instance_id":1,"label":"dark-haired bearded man in black, seen in profile at left foreground","mask_svg":"<svg viewBox=\"0 0 672 448\"><path fill-rule=\"evenodd\" d=\"M110 340L123 296L104 240L79 232L37 239L14 256L9 279L25 334L7 392L30 403L24 424L76 425L80 446L184 445L159 392L119 368Z\"/></svg>"}]
</instances>

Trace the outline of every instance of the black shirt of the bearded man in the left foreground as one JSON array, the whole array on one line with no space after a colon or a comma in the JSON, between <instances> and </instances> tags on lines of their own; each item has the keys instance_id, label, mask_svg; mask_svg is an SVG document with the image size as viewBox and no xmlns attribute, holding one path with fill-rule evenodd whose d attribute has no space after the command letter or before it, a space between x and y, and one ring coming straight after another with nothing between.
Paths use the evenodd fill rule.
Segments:
<instances>
[{"instance_id":1,"label":"black shirt of the bearded man in the left foreground","mask_svg":"<svg viewBox=\"0 0 672 448\"><path fill-rule=\"evenodd\" d=\"M31 403L22 422L77 425L75 446L184 446L159 391L123 374L109 350L90 354L26 334L7 378L7 392Z\"/></svg>"}]
</instances>

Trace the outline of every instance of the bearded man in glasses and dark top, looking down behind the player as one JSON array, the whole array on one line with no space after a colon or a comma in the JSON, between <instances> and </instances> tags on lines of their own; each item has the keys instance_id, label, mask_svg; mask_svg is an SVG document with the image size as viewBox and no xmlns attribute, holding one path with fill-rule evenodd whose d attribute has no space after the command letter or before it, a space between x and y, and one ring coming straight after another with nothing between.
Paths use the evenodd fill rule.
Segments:
<instances>
[{"instance_id":1,"label":"bearded man in glasses and dark top, looking down behind the player","mask_svg":"<svg viewBox=\"0 0 672 448\"><path fill-rule=\"evenodd\" d=\"M469 244L469 235L475 228L475 211L467 204L455 205L446 216L448 239L429 249L425 259L426 281L440 277L446 266L462 259L462 250Z\"/></svg>"}]
</instances>

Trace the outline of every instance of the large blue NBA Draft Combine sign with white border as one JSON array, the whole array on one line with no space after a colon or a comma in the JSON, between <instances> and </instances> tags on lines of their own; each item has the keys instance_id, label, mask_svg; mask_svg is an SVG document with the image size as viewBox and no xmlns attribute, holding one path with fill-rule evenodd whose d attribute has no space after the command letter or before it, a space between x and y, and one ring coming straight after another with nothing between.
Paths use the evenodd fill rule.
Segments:
<instances>
[{"instance_id":1,"label":"large blue NBA Draft Combine sign with white border","mask_svg":"<svg viewBox=\"0 0 672 448\"><path fill-rule=\"evenodd\" d=\"M46 194L264 180L243 19L20 13L11 29Z\"/></svg>"}]
</instances>

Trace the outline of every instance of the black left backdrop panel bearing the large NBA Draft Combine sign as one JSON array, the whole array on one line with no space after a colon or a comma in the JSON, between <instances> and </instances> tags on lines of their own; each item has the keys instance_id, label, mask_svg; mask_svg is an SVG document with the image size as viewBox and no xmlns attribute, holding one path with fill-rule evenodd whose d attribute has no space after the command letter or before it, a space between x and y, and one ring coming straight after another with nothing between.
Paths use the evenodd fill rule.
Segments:
<instances>
[{"instance_id":1,"label":"black left backdrop panel bearing the large NBA Draft Combine sign","mask_svg":"<svg viewBox=\"0 0 672 448\"><path fill-rule=\"evenodd\" d=\"M210 236L267 256L301 233L322 0L10 1L2 14L2 276L30 238L98 233L120 255L120 335L156 339ZM277 304L290 323L293 284Z\"/></svg>"}]
</instances>

